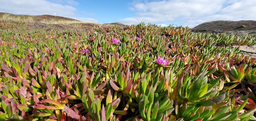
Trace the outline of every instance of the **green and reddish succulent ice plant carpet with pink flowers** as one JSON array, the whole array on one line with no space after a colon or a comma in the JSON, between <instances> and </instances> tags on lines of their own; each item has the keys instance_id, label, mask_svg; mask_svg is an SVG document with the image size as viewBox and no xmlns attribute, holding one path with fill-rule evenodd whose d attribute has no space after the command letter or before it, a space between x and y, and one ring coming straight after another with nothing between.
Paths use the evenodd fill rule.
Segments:
<instances>
[{"instance_id":1,"label":"green and reddish succulent ice plant carpet with pink flowers","mask_svg":"<svg viewBox=\"0 0 256 121\"><path fill-rule=\"evenodd\" d=\"M256 35L0 23L0 121L256 120Z\"/></svg>"}]
</instances>

